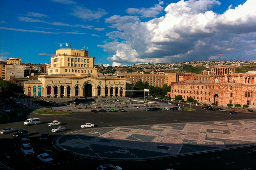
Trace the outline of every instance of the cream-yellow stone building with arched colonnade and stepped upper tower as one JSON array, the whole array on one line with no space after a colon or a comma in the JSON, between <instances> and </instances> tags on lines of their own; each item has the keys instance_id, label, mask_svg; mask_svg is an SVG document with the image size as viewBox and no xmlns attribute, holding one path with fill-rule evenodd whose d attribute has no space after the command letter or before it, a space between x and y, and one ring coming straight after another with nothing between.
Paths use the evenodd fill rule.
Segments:
<instances>
[{"instance_id":1,"label":"cream-yellow stone building with arched colonnade and stepped upper tower","mask_svg":"<svg viewBox=\"0 0 256 170\"><path fill-rule=\"evenodd\" d=\"M95 57L84 49L60 48L50 57L48 75L25 82L25 95L42 98L132 97L124 75L98 75ZM125 91L127 90L127 91Z\"/></svg>"}]
</instances>

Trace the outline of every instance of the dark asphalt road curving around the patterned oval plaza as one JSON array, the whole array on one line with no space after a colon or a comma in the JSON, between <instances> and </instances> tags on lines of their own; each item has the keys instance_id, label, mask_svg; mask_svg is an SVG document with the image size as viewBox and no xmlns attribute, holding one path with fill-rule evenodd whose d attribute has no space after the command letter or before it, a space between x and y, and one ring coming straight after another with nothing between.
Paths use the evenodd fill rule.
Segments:
<instances>
[{"instance_id":1,"label":"dark asphalt road curving around the patterned oval plaza","mask_svg":"<svg viewBox=\"0 0 256 170\"><path fill-rule=\"evenodd\" d=\"M10 109L21 109L11 101L7 103ZM19 139L13 138L12 134L1 134L0 162L12 169L97 169L101 164L110 163L121 166L124 170L142 169L142 170L164 170L172 168L175 170L184 169L232 169L245 170L256 169L256 157L250 154L250 150L256 147L248 146L216 152L207 152L193 155L176 156L163 159L142 160L142 161L116 161L116 160L99 160L77 157L74 161L60 160L58 150L52 145L52 141L58 135L67 131L81 129L80 125L84 123L93 123L95 127L113 127L113 126L131 126L131 125L155 125L169 123L188 123L188 122L208 122L224 120L242 120L255 119L253 113L238 113L230 115L229 112L206 111L200 107L194 107L196 111L143 111L136 108L127 109L127 112L111 113L91 113L91 112L74 112L71 115L37 115L32 111L22 111L23 116L18 117L12 111L8 113L9 120L0 122L0 128L12 127L15 130L27 129L30 134L31 145L35 151L33 156L24 157L20 154ZM23 122L27 118L40 118L41 124L34 126L24 126ZM47 124L53 120L61 122L61 126L67 131L53 133L53 127ZM50 140L39 142L42 132L50 133ZM36 159L36 155L48 153L55 160L52 165L44 165ZM6 169L0 165L0 169Z\"/></svg>"}]
</instances>

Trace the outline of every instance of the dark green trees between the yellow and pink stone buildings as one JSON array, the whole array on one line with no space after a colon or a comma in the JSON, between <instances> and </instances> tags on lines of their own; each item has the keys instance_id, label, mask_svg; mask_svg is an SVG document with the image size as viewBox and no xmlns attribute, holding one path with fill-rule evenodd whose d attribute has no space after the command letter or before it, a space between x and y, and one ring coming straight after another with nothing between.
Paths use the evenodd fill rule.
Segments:
<instances>
[{"instance_id":1,"label":"dark green trees between the yellow and pink stone buildings","mask_svg":"<svg viewBox=\"0 0 256 170\"><path fill-rule=\"evenodd\" d=\"M134 85L134 90L143 90L143 89L149 89L149 95L157 95L157 96L165 96L167 98L167 92L171 91L171 86L167 86L166 84L163 85L163 87L155 87L150 86L148 82L142 82L137 81ZM142 94L138 93L138 94Z\"/></svg>"}]
</instances>

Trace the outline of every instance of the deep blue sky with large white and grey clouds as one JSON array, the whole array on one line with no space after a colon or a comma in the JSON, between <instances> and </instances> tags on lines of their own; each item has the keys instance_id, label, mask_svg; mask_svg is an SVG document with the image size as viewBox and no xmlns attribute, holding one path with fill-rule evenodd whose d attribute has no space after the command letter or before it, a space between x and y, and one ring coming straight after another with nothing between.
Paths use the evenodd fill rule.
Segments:
<instances>
[{"instance_id":1,"label":"deep blue sky with large white and grey clouds","mask_svg":"<svg viewBox=\"0 0 256 170\"><path fill-rule=\"evenodd\" d=\"M256 60L255 0L2 0L0 60L49 63L56 46L95 63Z\"/></svg>"}]
</instances>

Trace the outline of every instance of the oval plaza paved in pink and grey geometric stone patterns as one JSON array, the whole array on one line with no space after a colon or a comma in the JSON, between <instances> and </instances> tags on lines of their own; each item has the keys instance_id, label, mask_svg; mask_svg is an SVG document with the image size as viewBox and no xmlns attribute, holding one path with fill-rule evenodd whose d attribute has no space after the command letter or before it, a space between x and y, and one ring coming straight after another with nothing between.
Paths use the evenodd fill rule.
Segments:
<instances>
[{"instance_id":1,"label":"oval plaza paved in pink and grey geometric stone patterns","mask_svg":"<svg viewBox=\"0 0 256 170\"><path fill-rule=\"evenodd\" d=\"M101 159L154 159L255 144L256 120L86 128L53 141Z\"/></svg>"}]
</instances>

